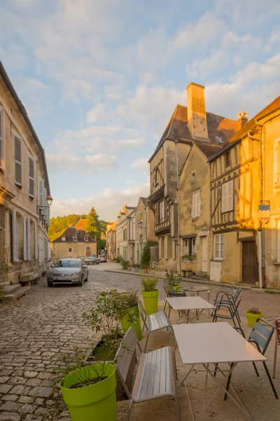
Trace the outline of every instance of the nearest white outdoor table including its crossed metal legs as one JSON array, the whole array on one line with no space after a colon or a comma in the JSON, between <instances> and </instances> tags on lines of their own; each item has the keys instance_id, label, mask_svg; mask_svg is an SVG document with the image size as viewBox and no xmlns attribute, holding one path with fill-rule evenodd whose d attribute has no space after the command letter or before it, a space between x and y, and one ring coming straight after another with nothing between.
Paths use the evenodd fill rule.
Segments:
<instances>
[{"instance_id":1,"label":"nearest white outdoor table including its crossed metal legs","mask_svg":"<svg viewBox=\"0 0 280 421\"><path fill-rule=\"evenodd\" d=\"M235 402L238 408L248 417L249 420L253 420L232 387L231 390L235 394L235 397L232 396L230 392L227 392L226 385L228 377L231 375L232 370L234 370L237 366L237 363L265 361L265 356L260 354L258 349L255 349L253 345L246 341L246 339L237 333L237 331L227 322L197 323L188 325L181 324L173 325L173 328L183 363L190 366L188 373L181 382L181 385L183 383L185 384L189 403L190 398L186 386L186 378L197 364L202 365L204 367L204 370L202 371L206 373L202 412L198 415L196 421L200 420L202 414L205 410L207 410L207 407L214 399L214 396L216 396L221 389L225 390L228 396L230 396L230 399ZM227 363L227 366L230 364L229 369L223 370L220 366L217 366L217 364L220 363ZM213 370L209 368L210 364L214 364ZM218 370L218 373L223 375L223 380L225 381L224 384L223 382L219 382L221 378L218 379L214 376L215 367L216 370ZM195 371L200 370L196 369ZM218 388L207 401L208 376L211 376L214 379L214 381L218 384ZM190 410L193 420L195 420L191 404Z\"/></svg>"}]
</instances>

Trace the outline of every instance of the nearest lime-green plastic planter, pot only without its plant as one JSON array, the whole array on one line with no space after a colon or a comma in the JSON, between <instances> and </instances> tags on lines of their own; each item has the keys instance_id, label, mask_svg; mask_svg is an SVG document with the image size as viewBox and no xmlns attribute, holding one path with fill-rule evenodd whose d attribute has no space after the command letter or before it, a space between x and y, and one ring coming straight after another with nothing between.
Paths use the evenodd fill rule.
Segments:
<instances>
[{"instance_id":1,"label":"nearest lime-green plastic planter, pot only without its plant","mask_svg":"<svg viewBox=\"0 0 280 421\"><path fill-rule=\"evenodd\" d=\"M108 377L102 382L80 387L80 389L69 389L78 383L78 378L83 373L88 373L88 370L90 370L90 377L96 377L94 367L98 370L101 366L102 364L93 364L80 368L66 375L63 386L62 382L60 383L62 396L68 406L72 421L118 421L116 372L113 364L106 364L104 375Z\"/></svg>"}]
</instances>

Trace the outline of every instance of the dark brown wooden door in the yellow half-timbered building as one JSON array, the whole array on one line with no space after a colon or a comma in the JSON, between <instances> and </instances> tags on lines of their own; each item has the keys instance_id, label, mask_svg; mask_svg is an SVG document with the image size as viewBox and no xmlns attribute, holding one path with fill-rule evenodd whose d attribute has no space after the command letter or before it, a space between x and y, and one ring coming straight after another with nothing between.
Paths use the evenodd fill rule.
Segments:
<instances>
[{"instance_id":1,"label":"dark brown wooden door in the yellow half-timbered building","mask_svg":"<svg viewBox=\"0 0 280 421\"><path fill-rule=\"evenodd\" d=\"M255 241L242 242L242 282L258 282L258 254Z\"/></svg>"}]
</instances>

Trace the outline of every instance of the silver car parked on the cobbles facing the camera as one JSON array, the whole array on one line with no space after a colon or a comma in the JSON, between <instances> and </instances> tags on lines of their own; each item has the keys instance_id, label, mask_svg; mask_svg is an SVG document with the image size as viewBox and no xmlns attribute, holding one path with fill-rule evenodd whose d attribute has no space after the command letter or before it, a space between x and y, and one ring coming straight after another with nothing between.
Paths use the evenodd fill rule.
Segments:
<instances>
[{"instance_id":1,"label":"silver car parked on the cobbles facing the camera","mask_svg":"<svg viewBox=\"0 0 280 421\"><path fill-rule=\"evenodd\" d=\"M60 259L55 265L50 265L47 274L48 286L53 286L54 283L76 283L83 286L87 278L87 265L83 260L72 258Z\"/></svg>"}]
</instances>

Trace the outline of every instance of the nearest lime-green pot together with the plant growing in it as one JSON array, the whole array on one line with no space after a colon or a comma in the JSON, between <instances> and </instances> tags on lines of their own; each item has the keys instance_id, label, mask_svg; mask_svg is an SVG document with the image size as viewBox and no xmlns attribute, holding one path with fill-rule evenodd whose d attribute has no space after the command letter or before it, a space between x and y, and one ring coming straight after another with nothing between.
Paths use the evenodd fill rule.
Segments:
<instances>
[{"instance_id":1,"label":"nearest lime-green pot together with the plant growing in it","mask_svg":"<svg viewBox=\"0 0 280 421\"><path fill-rule=\"evenodd\" d=\"M81 349L63 356L59 387L72 421L118 420L115 366L106 362L110 348L111 343L107 342L102 351L104 361L96 364L88 365Z\"/></svg>"}]
</instances>

